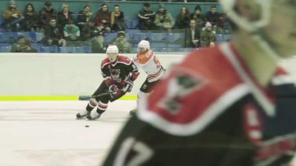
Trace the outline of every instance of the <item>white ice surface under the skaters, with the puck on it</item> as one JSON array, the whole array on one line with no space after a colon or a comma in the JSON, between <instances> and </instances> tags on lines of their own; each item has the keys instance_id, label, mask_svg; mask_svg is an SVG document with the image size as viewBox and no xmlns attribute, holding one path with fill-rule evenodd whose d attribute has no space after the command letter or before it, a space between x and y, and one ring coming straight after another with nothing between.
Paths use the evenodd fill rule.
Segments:
<instances>
[{"instance_id":1,"label":"white ice surface under the skaters, with the puck on it","mask_svg":"<svg viewBox=\"0 0 296 166\"><path fill-rule=\"evenodd\" d=\"M100 166L136 101L109 103L95 121L75 119L87 102L1 101L0 166Z\"/></svg>"}]
</instances>

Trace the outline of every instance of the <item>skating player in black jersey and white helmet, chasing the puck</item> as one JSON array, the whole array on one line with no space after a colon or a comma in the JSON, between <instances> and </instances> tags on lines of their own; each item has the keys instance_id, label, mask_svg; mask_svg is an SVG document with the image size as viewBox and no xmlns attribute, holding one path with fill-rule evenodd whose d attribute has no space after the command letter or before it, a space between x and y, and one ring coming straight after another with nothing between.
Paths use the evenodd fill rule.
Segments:
<instances>
[{"instance_id":1,"label":"skating player in black jersey and white helmet, chasing the puck","mask_svg":"<svg viewBox=\"0 0 296 166\"><path fill-rule=\"evenodd\" d=\"M101 63L101 73L104 81L92 96L112 92L109 95L91 98L87 107L76 115L76 118L87 117L89 120L98 119L108 107L108 103L113 102L127 92L130 92L133 81L138 77L138 68L128 57L118 55L118 48L115 45L107 48L108 58ZM95 107L96 110L92 111Z\"/></svg>"}]
</instances>

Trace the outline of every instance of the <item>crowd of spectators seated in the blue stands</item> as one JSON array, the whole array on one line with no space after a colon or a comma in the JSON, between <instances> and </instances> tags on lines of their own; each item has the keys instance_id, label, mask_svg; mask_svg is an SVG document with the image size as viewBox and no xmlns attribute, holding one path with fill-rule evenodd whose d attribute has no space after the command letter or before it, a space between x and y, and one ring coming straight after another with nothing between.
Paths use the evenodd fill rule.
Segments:
<instances>
[{"instance_id":1,"label":"crowd of spectators seated in the blue stands","mask_svg":"<svg viewBox=\"0 0 296 166\"><path fill-rule=\"evenodd\" d=\"M77 23L74 22L75 15ZM52 3L46 1L39 12L35 11L32 3L27 4L22 12L17 8L16 1L10 0L2 17L5 21L4 27L9 32L44 32L45 38L42 41L47 46L64 47L74 41L89 41L93 52L104 52L108 44L117 45L120 53L131 52L131 46L126 40L124 12L120 10L119 5L115 5L110 12L108 4L102 4L94 14L91 6L85 4L78 14L74 14L66 3L62 4L60 11L57 12ZM211 6L211 10L204 16L201 6L196 5L192 13L184 6L175 19L163 4L154 12L151 11L149 3L144 3L143 9L138 13L138 19L140 30L159 30L168 33L172 33L173 29L184 30L185 47L214 46L216 33L231 31L226 15L218 13L215 5ZM107 44L104 42L104 33L110 32L118 32L118 36L116 41ZM22 46L21 40L22 38L18 39L18 47L12 50L30 51L23 49L25 47Z\"/></svg>"}]
</instances>

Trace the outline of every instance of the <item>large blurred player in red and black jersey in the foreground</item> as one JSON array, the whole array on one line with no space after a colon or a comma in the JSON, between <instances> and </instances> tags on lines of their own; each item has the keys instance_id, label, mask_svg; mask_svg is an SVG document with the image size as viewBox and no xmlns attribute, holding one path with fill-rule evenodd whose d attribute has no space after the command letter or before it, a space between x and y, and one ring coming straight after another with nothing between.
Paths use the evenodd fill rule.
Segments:
<instances>
[{"instance_id":1,"label":"large blurred player in red and black jersey in the foreground","mask_svg":"<svg viewBox=\"0 0 296 166\"><path fill-rule=\"evenodd\" d=\"M233 38L191 52L126 123L103 166L290 166L296 0L221 0Z\"/></svg>"}]
</instances>

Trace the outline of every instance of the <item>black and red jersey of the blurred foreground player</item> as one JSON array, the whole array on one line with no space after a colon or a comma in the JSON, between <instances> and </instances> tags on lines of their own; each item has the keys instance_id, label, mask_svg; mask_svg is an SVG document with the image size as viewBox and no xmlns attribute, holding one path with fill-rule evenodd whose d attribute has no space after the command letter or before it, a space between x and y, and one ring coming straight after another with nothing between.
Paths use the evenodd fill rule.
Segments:
<instances>
[{"instance_id":1,"label":"black and red jersey of the blurred foreground player","mask_svg":"<svg viewBox=\"0 0 296 166\"><path fill-rule=\"evenodd\" d=\"M229 43L190 53L138 105L104 166L281 166L296 149L292 77L260 86Z\"/></svg>"}]
</instances>

